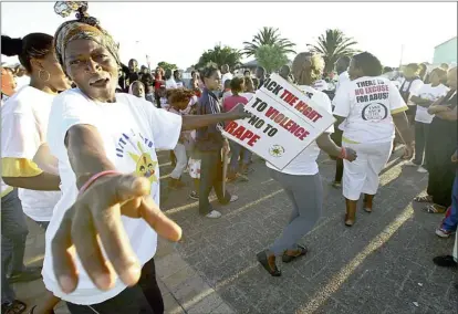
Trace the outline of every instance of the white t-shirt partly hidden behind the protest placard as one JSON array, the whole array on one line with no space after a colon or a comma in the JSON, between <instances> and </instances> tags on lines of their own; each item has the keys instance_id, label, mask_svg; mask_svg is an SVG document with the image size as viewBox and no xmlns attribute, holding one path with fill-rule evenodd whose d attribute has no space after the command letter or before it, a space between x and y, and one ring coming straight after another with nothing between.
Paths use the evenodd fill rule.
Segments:
<instances>
[{"instance_id":1,"label":"white t-shirt partly hidden behind the protest placard","mask_svg":"<svg viewBox=\"0 0 458 314\"><path fill-rule=\"evenodd\" d=\"M320 107L326 109L332 114L332 106L330 97L323 92L316 91L306 85L298 86L304 93L311 93L312 101ZM325 133L334 133L334 126L332 125ZM312 142L301 154L298 155L287 167L281 170L282 174L294 176L313 176L319 172L316 159L320 156L320 147L316 142ZM274 170L278 170L273 165L266 163L266 165Z\"/></svg>"}]
</instances>

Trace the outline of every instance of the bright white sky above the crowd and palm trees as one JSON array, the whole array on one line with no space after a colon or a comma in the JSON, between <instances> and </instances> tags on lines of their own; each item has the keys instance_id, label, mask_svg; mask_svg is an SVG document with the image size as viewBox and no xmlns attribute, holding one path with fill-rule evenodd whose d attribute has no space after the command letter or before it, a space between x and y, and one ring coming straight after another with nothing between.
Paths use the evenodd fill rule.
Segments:
<instances>
[{"instance_id":1,"label":"bright white sky above the crowd and palm trees","mask_svg":"<svg viewBox=\"0 0 458 314\"><path fill-rule=\"evenodd\" d=\"M2 34L54 34L65 21L54 3L2 2ZM456 2L90 2L89 12L119 42L124 63L146 64L147 54L152 66L165 61L180 69L216 44L243 49L262 27L278 28L296 52L326 29L340 29L389 66L431 62L434 48L457 35Z\"/></svg>"}]
</instances>

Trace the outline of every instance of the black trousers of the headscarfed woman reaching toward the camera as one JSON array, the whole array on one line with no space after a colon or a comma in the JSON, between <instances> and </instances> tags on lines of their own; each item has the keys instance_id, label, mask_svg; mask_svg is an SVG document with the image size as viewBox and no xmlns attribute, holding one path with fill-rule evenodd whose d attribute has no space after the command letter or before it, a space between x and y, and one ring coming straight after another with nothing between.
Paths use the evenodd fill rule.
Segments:
<instances>
[{"instance_id":1,"label":"black trousers of the headscarfed woman reaching toward the camera","mask_svg":"<svg viewBox=\"0 0 458 314\"><path fill-rule=\"evenodd\" d=\"M163 314L164 301L156 281L154 259L143 266L138 283L115 297L90 306L66 302L66 306L72 314Z\"/></svg>"}]
</instances>

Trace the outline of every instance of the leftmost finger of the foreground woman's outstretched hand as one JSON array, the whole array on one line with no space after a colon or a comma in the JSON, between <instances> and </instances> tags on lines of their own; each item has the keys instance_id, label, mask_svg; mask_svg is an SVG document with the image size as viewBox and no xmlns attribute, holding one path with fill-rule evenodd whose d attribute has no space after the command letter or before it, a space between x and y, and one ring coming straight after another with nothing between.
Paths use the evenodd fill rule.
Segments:
<instances>
[{"instance_id":1,"label":"leftmost finger of the foreground woman's outstretched hand","mask_svg":"<svg viewBox=\"0 0 458 314\"><path fill-rule=\"evenodd\" d=\"M54 274L64 293L71 293L77 286L75 250L71 237L72 220L70 219L74 211L74 207L69 209L51 243Z\"/></svg>"}]
</instances>

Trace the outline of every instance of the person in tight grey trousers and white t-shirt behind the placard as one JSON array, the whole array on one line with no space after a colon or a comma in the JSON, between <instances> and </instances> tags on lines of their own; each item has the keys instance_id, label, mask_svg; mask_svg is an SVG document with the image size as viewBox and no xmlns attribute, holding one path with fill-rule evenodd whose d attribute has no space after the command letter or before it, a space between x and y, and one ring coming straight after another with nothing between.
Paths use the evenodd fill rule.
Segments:
<instances>
[{"instance_id":1,"label":"person in tight grey trousers and white t-shirt behind the placard","mask_svg":"<svg viewBox=\"0 0 458 314\"><path fill-rule=\"evenodd\" d=\"M311 87L315 77L322 75L323 69L323 59L318 54L309 52L299 53L292 64L292 73L299 90L306 93L318 106L332 113L329 96ZM321 217L324 196L316 164L320 149L323 149L331 156L345 158L348 161L353 161L355 158L357 160L358 158L352 148L341 148L331 140L330 134L333 130L334 127L331 126L315 142L302 150L283 170L279 170L273 165L267 163L270 176L280 182L293 206L290 222L284 228L282 234L268 250L257 254L258 261L272 276L281 275L275 263L277 257L282 255L283 262L288 263L306 254L308 249L299 244L298 241L313 229Z\"/></svg>"}]
</instances>

